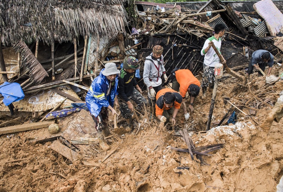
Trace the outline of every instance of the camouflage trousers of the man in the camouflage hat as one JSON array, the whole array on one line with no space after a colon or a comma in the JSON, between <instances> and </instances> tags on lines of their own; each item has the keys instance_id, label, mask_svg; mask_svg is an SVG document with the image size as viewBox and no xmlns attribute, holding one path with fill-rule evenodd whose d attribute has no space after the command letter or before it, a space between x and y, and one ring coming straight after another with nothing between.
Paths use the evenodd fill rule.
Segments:
<instances>
[{"instance_id":1,"label":"camouflage trousers of the man in the camouflage hat","mask_svg":"<svg viewBox=\"0 0 283 192\"><path fill-rule=\"evenodd\" d=\"M118 97L119 97L118 101L121 101L119 102L121 115L125 119L129 119L131 116L133 116L133 113L129 109L128 104L125 102L125 100L123 100L119 95ZM136 109L139 111L139 113L141 113L142 109L144 108L144 105L145 106L147 105L146 99L136 89L133 90L133 93L130 96L128 96L128 98L130 99L131 102L135 102L138 105Z\"/></svg>"}]
</instances>

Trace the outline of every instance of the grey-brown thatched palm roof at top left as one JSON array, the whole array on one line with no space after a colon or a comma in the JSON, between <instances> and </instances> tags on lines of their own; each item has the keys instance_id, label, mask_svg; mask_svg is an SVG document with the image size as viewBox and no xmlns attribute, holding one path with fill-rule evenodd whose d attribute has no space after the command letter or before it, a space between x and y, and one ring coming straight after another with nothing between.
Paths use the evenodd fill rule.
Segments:
<instances>
[{"instance_id":1,"label":"grey-brown thatched palm roof at top left","mask_svg":"<svg viewBox=\"0 0 283 192\"><path fill-rule=\"evenodd\" d=\"M5 0L0 3L2 42L72 41L124 30L125 0Z\"/></svg>"}]
</instances>

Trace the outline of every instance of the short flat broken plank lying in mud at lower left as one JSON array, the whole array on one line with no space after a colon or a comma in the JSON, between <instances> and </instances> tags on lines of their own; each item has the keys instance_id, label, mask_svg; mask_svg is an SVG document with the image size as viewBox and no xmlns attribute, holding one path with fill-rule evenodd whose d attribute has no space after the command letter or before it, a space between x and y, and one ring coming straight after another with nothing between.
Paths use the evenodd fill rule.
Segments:
<instances>
[{"instance_id":1,"label":"short flat broken plank lying in mud at lower left","mask_svg":"<svg viewBox=\"0 0 283 192\"><path fill-rule=\"evenodd\" d=\"M71 150L67 146L60 143L58 140L54 141L50 146L51 149L56 151L57 153L60 153L60 155L66 157L67 159L70 159L72 162L76 161L78 159L78 153Z\"/></svg>"}]
</instances>

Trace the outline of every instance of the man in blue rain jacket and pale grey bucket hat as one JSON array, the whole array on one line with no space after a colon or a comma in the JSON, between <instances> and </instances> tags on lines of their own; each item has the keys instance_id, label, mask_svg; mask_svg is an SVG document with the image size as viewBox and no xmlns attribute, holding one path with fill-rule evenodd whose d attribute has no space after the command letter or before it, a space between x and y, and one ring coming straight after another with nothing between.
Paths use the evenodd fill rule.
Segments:
<instances>
[{"instance_id":1,"label":"man in blue rain jacket and pale grey bucket hat","mask_svg":"<svg viewBox=\"0 0 283 192\"><path fill-rule=\"evenodd\" d=\"M110 134L107 108L111 110L113 115L117 114L113 105L118 105L117 74L119 73L120 71L117 70L115 63L107 63L105 69L102 69L99 76L92 81L89 91L86 94L86 106L95 122L99 145L103 150L110 148L104 141L104 136L109 136Z\"/></svg>"}]
</instances>

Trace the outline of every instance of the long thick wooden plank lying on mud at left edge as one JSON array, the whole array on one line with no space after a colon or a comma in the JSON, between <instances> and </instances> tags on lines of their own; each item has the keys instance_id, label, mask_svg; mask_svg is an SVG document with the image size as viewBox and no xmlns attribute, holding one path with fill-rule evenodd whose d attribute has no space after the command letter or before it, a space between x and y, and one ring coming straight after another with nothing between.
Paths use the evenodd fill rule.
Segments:
<instances>
[{"instance_id":1,"label":"long thick wooden plank lying on mud at left edge","mask_svg":"<svg viewBox=\"0 0 283 192\"><path fill-rule=\"evenodd\" d=\"M50 121L45 121L45 122L36 122L36 123L5 127L5 128L0 129L0 135L7 134L7 133L16 133L20 131L28 131L28 130L46 128L54 122L55 120L50 120Z\"/></svg>"}]
</instances>

